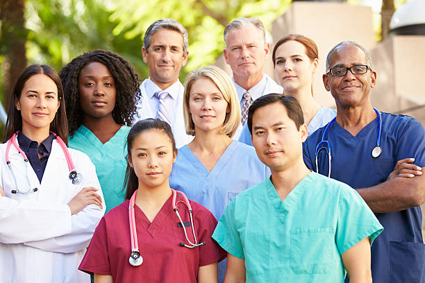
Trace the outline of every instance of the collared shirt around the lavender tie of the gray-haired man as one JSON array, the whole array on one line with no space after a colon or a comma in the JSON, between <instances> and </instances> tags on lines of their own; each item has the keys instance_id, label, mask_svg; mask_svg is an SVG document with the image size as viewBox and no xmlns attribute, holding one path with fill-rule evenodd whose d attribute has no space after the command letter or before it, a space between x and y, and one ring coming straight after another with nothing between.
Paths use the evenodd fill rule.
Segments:
<instances>
[{"instance_id":1,"label":"collared shirt around the lavender tie of the gray-haired man","mask_svg":"<svg viewBox=\"0 0 425 283\"><path fill-rule=\"evenodd\" d=\"M156 92L167 92L169 95L167 95L164 98L164 104L165 108L167 108L167 111L171 114L170 119L172 119L172 123L174 123L174 117L176 117L176 110L177 110L177 104L178 104L178 92L180 90L180 82L176 80L176 83L173 83L166 89L160 89L156 83L153 83L151 78L147 81L146 85L147 89L147 97L149 99L149 106L152 110L155 110L155 113L158 113L158 105L159 105L159 99L154 95ZM154 117L156 118L156 117Z\"/></svg>"}]
</instances>

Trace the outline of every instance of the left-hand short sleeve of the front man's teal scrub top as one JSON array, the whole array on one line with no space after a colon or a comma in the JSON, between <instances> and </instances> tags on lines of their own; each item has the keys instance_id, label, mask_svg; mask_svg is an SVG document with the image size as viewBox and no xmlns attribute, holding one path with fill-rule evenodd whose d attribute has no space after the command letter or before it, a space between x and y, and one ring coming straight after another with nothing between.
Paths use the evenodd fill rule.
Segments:
<instances>
[{"instance_id":1,"label":"left-hand short sleeve of the front man's teal scrub top","mask_svg":"<svg viewBox=\"0 0 425 283\"><path fill-rule=\"evenodd\" d=\"M226 252L240 259L245 259L240 234L235 226L235 198L228 203L217 228L215 228L213 239L219 243Z\"/></svg>"}]
</instances>

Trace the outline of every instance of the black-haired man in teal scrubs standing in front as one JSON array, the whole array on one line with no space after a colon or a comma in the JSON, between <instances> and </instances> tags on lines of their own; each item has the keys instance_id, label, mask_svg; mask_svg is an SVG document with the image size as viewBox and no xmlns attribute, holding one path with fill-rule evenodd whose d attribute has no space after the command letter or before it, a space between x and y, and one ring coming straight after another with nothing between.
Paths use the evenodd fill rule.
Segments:
<instances>
[{"instance_id":1,"label":"black-haired man in teal scrubs standing in front","mask_svg":"<svg viewBox=\"0 0 425 283\"><path fill-rule=\"evenodd\" d=\"M297 99L258 98L248 126L272 176L231 200L215 229L228 252L225 282L344 282L346 271L350 282L372 282L370 244L383 228L355 190L307 169Z\"/></svg>"}]
</instances>

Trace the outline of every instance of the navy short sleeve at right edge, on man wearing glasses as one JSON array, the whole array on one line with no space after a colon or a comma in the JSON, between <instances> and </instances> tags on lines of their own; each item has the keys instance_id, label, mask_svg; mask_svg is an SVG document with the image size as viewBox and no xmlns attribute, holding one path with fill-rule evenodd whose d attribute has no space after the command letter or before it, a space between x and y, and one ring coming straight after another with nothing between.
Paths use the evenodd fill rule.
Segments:
<instances>
[{"instance_id":1,"label":"navy short sleeve at right edge, on man wearing glasses","mask_svg":"<svg viewBox=\"0 0 425 283\"><path fill-rule=\"evenodd\" d=\"M395 152L396 161L414 157L417 166L425 166L425 130L417 119L409 117L409 121L397 137Z\"/></svg>"}]
</instances>

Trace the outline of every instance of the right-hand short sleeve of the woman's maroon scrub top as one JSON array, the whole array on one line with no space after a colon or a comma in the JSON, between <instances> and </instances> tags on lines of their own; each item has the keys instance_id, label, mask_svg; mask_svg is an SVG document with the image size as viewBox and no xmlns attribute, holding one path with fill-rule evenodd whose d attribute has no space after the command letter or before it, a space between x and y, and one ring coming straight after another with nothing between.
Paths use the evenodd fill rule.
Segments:
<instances>
[{"instance_id":1,"label":"right-hand short sleeve of the woman's maroon scrub top","mask_svg":"<svg viewBox=\"0 0 425 283\"><path fill-rule=\"evenodd\" d=\"M205 245L199 248L199 266L206 266L212 264L215 261L222 261L226 257L226 252L211 238L215 226L217 226L217 220L208 209L205 212L198 214L203 217L199 223L199 241L204 241Z\"/></svg>"}]
</instances>

